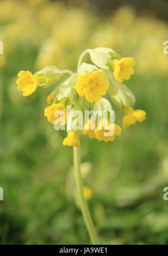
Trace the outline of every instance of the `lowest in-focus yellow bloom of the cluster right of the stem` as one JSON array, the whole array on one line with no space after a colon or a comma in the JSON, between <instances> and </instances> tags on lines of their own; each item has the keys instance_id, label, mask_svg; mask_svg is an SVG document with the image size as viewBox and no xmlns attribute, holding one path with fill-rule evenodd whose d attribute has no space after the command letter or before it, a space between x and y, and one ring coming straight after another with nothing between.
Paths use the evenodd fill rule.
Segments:
<instances>
[{"instance_id":1,"label":"lowest in-focus yellow bloom of the cluster right of the stem","mask_svg":"<svg viewBox=\"0 0 168 256\"><path fill-rule=\"evenodd\" d=\"M106 134L106 133L110 132L111 125L112 124L110 124L108 120L102 120L102 124L99 124L97 126L97 128L95 129L95 136L96 136L97 140L105 141L105 142L114 141L115 135L119 136L121 134L122 129L118 125L114 124L114 133L113 133L113 135L109 134L109 136L108 136L108 134Z\"/></svg>"}]
</instances>

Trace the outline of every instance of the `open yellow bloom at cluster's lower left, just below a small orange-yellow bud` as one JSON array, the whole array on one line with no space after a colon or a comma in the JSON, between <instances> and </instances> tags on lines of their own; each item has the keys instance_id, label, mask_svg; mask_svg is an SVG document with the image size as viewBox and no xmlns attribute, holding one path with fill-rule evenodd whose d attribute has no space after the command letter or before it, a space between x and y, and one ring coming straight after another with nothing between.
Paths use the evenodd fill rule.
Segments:
<instances>
[{"instance_id":1,"label":"open yellow bloom at cluster's lower left, just below a small orange-yellow bud","mask_svg":"<svg viewBox=\"0 0 168 256\"><path fill-rule=\"evenodd\" d=\"M63 111L62 113L57 113L57 111ZM56 116L58 114L58 116ZM53 104L46 107L44 110L44 115L47 117L48 122L54 124L57 119L59 119L58 125L63 125L67 122L67 110L62 103ZM54 116L55 115L55 116Z\"/></svg>"}]
</instances>

